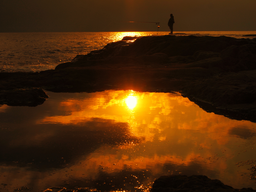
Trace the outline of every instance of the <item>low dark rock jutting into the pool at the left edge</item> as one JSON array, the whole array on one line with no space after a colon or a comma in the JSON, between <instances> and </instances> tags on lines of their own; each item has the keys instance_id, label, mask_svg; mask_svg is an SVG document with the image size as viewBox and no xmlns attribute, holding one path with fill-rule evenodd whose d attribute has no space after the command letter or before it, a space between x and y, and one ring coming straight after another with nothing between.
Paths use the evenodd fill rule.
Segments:
<instances>
[{"instance_id":1,"label":"low dark rock jutting into the pool at the left edge","mask_svg":"<svg viewBox=\"0 0 256 192\"><path fill-rule=\"evenodd\" d=\"M0 104L9 106L37 106L48 98L48 95L38 88L15 89L0 91Z\"/></svg>"}]
</instances>

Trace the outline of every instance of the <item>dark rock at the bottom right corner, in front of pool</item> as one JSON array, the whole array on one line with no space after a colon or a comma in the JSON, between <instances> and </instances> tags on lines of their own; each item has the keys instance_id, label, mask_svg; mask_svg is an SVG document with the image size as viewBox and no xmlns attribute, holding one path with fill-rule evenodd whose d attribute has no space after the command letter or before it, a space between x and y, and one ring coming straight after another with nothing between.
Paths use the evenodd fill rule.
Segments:
<instances>
[{"instance_id":1,"label":"dark rock at the bottom right corner, in front of pool","mask_svg":"<svg viewBox=\"0 0 256 192\"><path fill-rule=\"evenodd\" d=\"M252 188L234 189L231 186L224 185L217 179L210 179L203 175L169 175L162 176L155 180L152 192L174 192L174 191L186 191L186 192L205 192L205 191L256 191Z\"/></svg>"}]
</instances>

